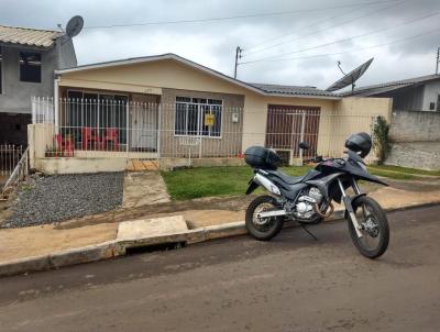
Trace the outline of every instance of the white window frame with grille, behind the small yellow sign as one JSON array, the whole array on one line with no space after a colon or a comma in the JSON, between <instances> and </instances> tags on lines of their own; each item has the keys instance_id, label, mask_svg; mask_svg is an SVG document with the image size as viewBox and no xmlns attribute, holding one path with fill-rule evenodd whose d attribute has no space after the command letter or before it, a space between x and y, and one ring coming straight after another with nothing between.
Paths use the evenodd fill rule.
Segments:
<instances>
[{"instance_id":1,"label":"white window frame with grille, behind the small yellow sign","mask_svg":"<svg viewBox=\"0 0 440 332\"><path fill-rule=\"evenodd\" d=\"M177 101L177 98L189 98L189 99L206 99L207 100L207 103L200 103L200 102L193 102L193 101ZM219 101L221 101L221 104L217 104L217 103L209 103L208 101L209 101L209 99L212 99L212 100L219 100ZM177 121L177 104L186 104L187 106L187 108L186 108L186 120L185 120L185 122L186 122L186 132L188 132L188 106L189 104L193 104L193 106L197 106L197 132L198 132L198 134L197 135L189 135L189 134L176 134L176 121ZM202 134L200 134L201 132L202 132L202 126L204 126L204 123L202 123L202 120L204 119L201 119L201 115L202 115L202 113L204 113L204 110L202 110L202 107L209 107L209 112L210 112L210 114L212 114L212 107L220 107L221 109L220 109L220 121L221 121L221 123L220 123L220 135L211 135L211 129L209 129L209 134L208 135L202 135ZM223 129L223 99L217 99L217 98L199 98L199 97L185 97L185 96L177 96L176 97L176 101L175 101L175 109L174 109L174 136L175 137L196 137L196 139L213 139L213 140L221 140L222 139L222 135L223 135L223 132L222 132L222 129Z\"/></svg>"}]
</instances>

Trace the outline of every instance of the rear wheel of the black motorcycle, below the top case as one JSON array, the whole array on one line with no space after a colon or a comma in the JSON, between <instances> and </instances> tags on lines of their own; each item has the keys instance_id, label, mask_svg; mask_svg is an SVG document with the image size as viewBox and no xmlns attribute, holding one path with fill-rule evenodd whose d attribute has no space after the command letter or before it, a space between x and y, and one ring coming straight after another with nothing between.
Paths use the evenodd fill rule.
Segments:
<instances>
[{"instance_id":1,"label":"rear wheel of the black motorcycle, below the top case","mask_svg":"<svg viewBox=\"0 0 440 332\"><path fill-rule=\"evenodd\" d=\"M283 228L283 217L258 218L257 214L279 209L276 199L272 196L255 198L246 210L246 229L251 236L258 241L270 241L277 235Z\"/></svg>"}]
</instances>

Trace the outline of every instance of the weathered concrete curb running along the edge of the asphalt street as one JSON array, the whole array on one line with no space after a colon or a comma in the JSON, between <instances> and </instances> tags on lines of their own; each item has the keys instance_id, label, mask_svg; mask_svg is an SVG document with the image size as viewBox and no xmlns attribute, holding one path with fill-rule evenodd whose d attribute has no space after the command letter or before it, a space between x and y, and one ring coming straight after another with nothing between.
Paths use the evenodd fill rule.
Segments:
<instances>
[{"instance_id":1,"label":"weathered concrete curb running along the edge of the asphalt street","mask_svg":"<svg viewBox=\"0 0 440 332\"><path fill-rule=\"evenodd\" d=\"M415 208L426 208L437 206L440 202L428 202L407 207L385 209L386 212L409 210ZM336 211L328 222L343 220L343 210ZM130 241L108 241L95 245L88 245L79 248L72 248L58 253L33 256L9 261L0 264L0 277L19 275L31 272L57 269L64 266L70 266L81 263L91 263L101 259L108 259L127 254L127 248L139 246L151 246L166 243L186 243L194 244L216 239L231 237L246 234L248 231L244 221L230 222L221 225L211 225L188 230L185 233L176 233L148 239L139 239Z\"/></svg>"}]
</instances>

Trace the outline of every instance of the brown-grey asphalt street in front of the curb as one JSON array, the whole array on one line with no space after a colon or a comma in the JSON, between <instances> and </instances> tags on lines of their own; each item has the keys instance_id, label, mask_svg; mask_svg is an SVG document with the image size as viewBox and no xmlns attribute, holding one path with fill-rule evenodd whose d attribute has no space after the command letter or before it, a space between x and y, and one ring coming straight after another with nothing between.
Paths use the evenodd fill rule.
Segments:
<instances>
[{"instance_id":1,"label":"brown-grey asphalt street in front of the curb","mask_svg":"<svg viewBox=\"0 0 440 332\"><path fill-rule=\"evenodd\" d=\"M0 279L0 331L440 331L440 206L388 213L370 261L345 222Z\"/></svg>"}]
</instances>

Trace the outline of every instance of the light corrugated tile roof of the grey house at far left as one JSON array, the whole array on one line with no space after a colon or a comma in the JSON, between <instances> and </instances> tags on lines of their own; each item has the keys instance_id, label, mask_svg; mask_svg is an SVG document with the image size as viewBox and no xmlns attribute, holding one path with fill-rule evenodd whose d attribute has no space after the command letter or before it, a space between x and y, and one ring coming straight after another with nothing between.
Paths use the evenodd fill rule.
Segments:
<instances>
[{"instance_id":1,"label":"light corrugated tile roof of the grey house at far left","mask_svg":"<svg viewBox=\"0 0 440 332\"><path fill-rule=\"evenodd\" d=\"M0 25L0 43L52 47L55 40L62 34L59 31Z\"/></svg>"}]
</instances>

